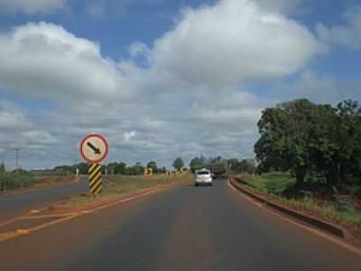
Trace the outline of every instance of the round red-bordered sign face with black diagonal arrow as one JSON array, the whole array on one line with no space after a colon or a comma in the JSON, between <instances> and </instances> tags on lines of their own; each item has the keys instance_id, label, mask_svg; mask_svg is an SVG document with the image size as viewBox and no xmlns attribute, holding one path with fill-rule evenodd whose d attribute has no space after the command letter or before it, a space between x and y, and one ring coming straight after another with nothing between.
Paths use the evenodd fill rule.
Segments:
<instances>
[{"instance_id":1,"label":"round red-bordered sign face with black diagonal arrow","mask_svg":"<svg viewBox=\"0 0 361 271\"><path fill-rule=\"evenodd\" d=\"M80 144L80 154L88 163L99 163L106 158L108 145L102 135L87 135Z\"/></svg>"}]
</instances>

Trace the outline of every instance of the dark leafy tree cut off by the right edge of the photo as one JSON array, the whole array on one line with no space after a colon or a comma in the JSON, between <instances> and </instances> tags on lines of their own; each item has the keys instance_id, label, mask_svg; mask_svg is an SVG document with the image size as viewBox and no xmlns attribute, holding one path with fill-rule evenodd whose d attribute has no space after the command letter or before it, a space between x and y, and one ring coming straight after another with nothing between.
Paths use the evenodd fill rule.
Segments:
<instances>
[{"instance_id":1,"label":"dark leafy tree cut off by the right edge of the photo","mask_svg":"<svg viewBox=\"0 0 361 271\"><path fill-rule=\"evenodd\" d=\"M314 129L314 162L329 186L360 177L361 108L347 100L338 107L319 106Z\"/></svg>"}]
</instances>

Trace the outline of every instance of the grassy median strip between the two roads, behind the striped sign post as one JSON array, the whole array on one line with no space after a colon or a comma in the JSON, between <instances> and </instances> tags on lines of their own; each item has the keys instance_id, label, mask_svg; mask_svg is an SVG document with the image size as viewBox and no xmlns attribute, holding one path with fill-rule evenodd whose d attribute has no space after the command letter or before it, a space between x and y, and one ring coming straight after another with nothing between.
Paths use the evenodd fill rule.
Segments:
<instances>
[{"instance_id":1,"label":"grassy median strip between the two roads, behind the striped sign post","mask_svg":"<svg viewBox=\"0 0 361 271\"><path fill-rule=\"evenodd\" d=\"M132 194L143 189L160 186L163 184L170 184L174 182L190 182L193 180L193 175L179 175L168 177L166 175L153 176L106 176L103 182L103 192L101 195L94 197L88 194L82 194L69 198L62 202L65 205L79 207L84 204L106 201L112 199L121 199L129 194ZM109 181L110 184L109 185ZM109 185L109 186L108 186Z\"/></svg>"}]
</instances>

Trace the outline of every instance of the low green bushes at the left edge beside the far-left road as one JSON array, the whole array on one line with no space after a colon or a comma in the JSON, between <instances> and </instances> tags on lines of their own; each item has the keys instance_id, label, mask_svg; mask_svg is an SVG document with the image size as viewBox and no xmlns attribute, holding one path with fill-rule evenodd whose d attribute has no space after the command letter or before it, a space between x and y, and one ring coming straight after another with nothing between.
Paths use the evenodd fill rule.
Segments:
<instances>
[{"instance_id":1,"label":"low green bushes at the left edge beside the far-left road","mask_svg":"<svg viewBox=\"0 0 361 271\"><path fill-rule=\"evenodd\" d=\"M32 187L34 176L30 173L0 173L0 191Z\"/></svg>"}]
</instances>

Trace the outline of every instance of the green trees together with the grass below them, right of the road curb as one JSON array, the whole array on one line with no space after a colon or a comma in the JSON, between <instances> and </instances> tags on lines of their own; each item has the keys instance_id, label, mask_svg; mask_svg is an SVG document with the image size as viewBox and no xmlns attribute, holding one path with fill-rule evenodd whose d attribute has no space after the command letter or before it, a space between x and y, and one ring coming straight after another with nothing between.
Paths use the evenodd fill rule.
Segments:
<instances>
[{"instance_id":1,"label":"green trees together with the grass below them, right of the road curb","mask_svg":"<svg viewBox=\"0 0 361 271\"><path fill-rule=\"evenodd\" d=\"M298 210L361 229L361 107L298 99L266 108L256 171L241 179ZM256 173L256 174L255 174Z\"/></svg>"}]
</instances>

